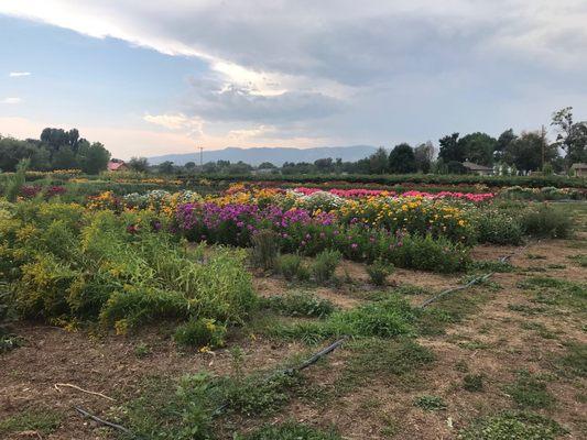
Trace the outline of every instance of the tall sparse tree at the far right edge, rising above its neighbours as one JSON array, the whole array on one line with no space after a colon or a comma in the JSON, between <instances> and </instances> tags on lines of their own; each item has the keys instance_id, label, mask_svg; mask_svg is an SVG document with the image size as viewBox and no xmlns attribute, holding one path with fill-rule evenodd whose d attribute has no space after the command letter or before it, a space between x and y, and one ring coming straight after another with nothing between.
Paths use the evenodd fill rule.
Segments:
<instances>
[{"instance_id":1,"label":"tall sparse tree at the far right edge, rising above its neighbours","mask_svg":"<svg viewBox=\"0 0 587 440\"><path fill-rule=\"evenodd\" d=\"M565 107L553 113L551 125L558 134L555 145L566 152L566 163L587 162L587 121L573 122L573 107Z\"/></svg>"}]
</instances>

